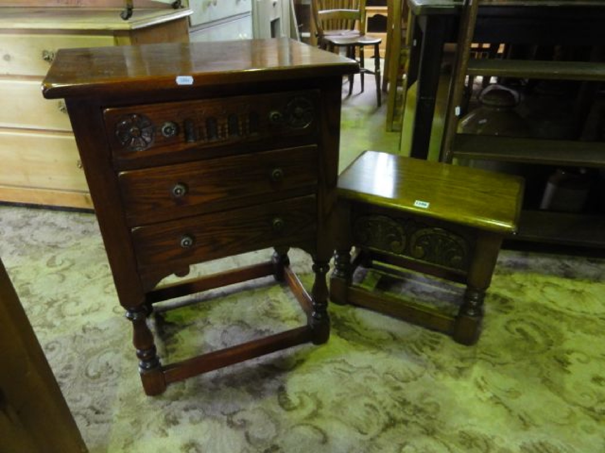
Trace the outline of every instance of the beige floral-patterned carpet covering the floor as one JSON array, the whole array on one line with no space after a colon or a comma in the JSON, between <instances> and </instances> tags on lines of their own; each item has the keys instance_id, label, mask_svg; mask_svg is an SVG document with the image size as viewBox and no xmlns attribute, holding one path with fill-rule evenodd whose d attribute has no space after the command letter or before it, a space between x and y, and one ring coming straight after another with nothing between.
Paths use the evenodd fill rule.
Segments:
<instances>
[{"instance_id":1,"label":"beige floral-patterned carpet covering the floor","mask_svg":"<svg viewBox=\"0 0 605 453\"><path fill-rule=\"evenodd\" d=\"M327 344L147 397L94 215L0 207L0 233L0 256L92 453L605 452L605 260L503 251L471 347L331 304ZM309 258L291 259L310 284ZM443 291L420 287L402 297ZM196 297L158 310L165 363L304 322L270 278Z\"/></svg>"}]
</instances>

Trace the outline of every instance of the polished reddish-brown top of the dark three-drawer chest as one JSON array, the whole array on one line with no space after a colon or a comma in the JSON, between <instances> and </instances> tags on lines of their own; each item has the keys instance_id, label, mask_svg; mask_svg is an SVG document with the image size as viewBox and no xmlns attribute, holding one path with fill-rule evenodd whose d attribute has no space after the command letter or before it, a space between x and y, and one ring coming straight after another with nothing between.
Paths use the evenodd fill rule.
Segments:
<instances>
[{"instance_id":1,"label":"polished reddish-brown top of the dark three-drawer chest","mask_svg":"<svg viewBox=\"0 0 605 453\"><path fill-rule=\"evenodd\" d=\"M157 91L357 72L355 60L296 40L250 39L61 49L42 92L47 98Z\"/></svg>"}]
</instances>

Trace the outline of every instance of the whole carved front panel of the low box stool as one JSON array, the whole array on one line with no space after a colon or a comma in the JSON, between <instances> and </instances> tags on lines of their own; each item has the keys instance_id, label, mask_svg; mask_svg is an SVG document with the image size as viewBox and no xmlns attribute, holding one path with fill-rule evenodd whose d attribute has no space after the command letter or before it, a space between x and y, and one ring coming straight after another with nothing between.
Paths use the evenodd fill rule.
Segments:
<instances>
[{"instance_id":1,"label":"whole carved front panel of the low box stool","mask_svg":"<svg viewBox=\"0 0 605 453\"><path fill-rule=\"evenodd\" d=\"M353 238L357 245L451 269L466 270L471 255L465 237L412 219L359 216L353 222Z\"/></svg>"}]
</instances>

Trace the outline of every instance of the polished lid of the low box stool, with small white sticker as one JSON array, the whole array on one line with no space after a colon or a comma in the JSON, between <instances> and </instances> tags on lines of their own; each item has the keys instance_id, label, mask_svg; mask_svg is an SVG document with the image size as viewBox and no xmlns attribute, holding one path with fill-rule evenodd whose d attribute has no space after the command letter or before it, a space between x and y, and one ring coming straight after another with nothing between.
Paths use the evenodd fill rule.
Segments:
<instances>
[{"instance_id":1,"label":"polished lid of the low box stool, with small white sticker","mask_svg":"<svg viewBox=\"0 0 605 453\"><path fill-rule=\"evenodd\" d=\"M523 179L366 151L342 172L339 197L499 233L517 228Z\"/></svg>"}]
</instances>

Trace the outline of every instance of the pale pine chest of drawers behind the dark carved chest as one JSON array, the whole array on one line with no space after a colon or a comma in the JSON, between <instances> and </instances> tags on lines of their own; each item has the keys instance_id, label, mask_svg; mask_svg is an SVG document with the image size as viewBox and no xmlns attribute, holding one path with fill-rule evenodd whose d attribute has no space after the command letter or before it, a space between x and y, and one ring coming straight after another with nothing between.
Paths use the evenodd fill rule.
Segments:
<instances>
[{"instance_id":1,"label":"pale pine chest of drawers behind the dark carved chest","mask_svg":"<svg viewBox=\"0 0 605 453\"><path fill-rule=\"evenodd\" d=\"M60 48L187 42L190 10L0 8L0 201L91 208L62 100L40 83Z\"/></svg>"}]
</instances>

